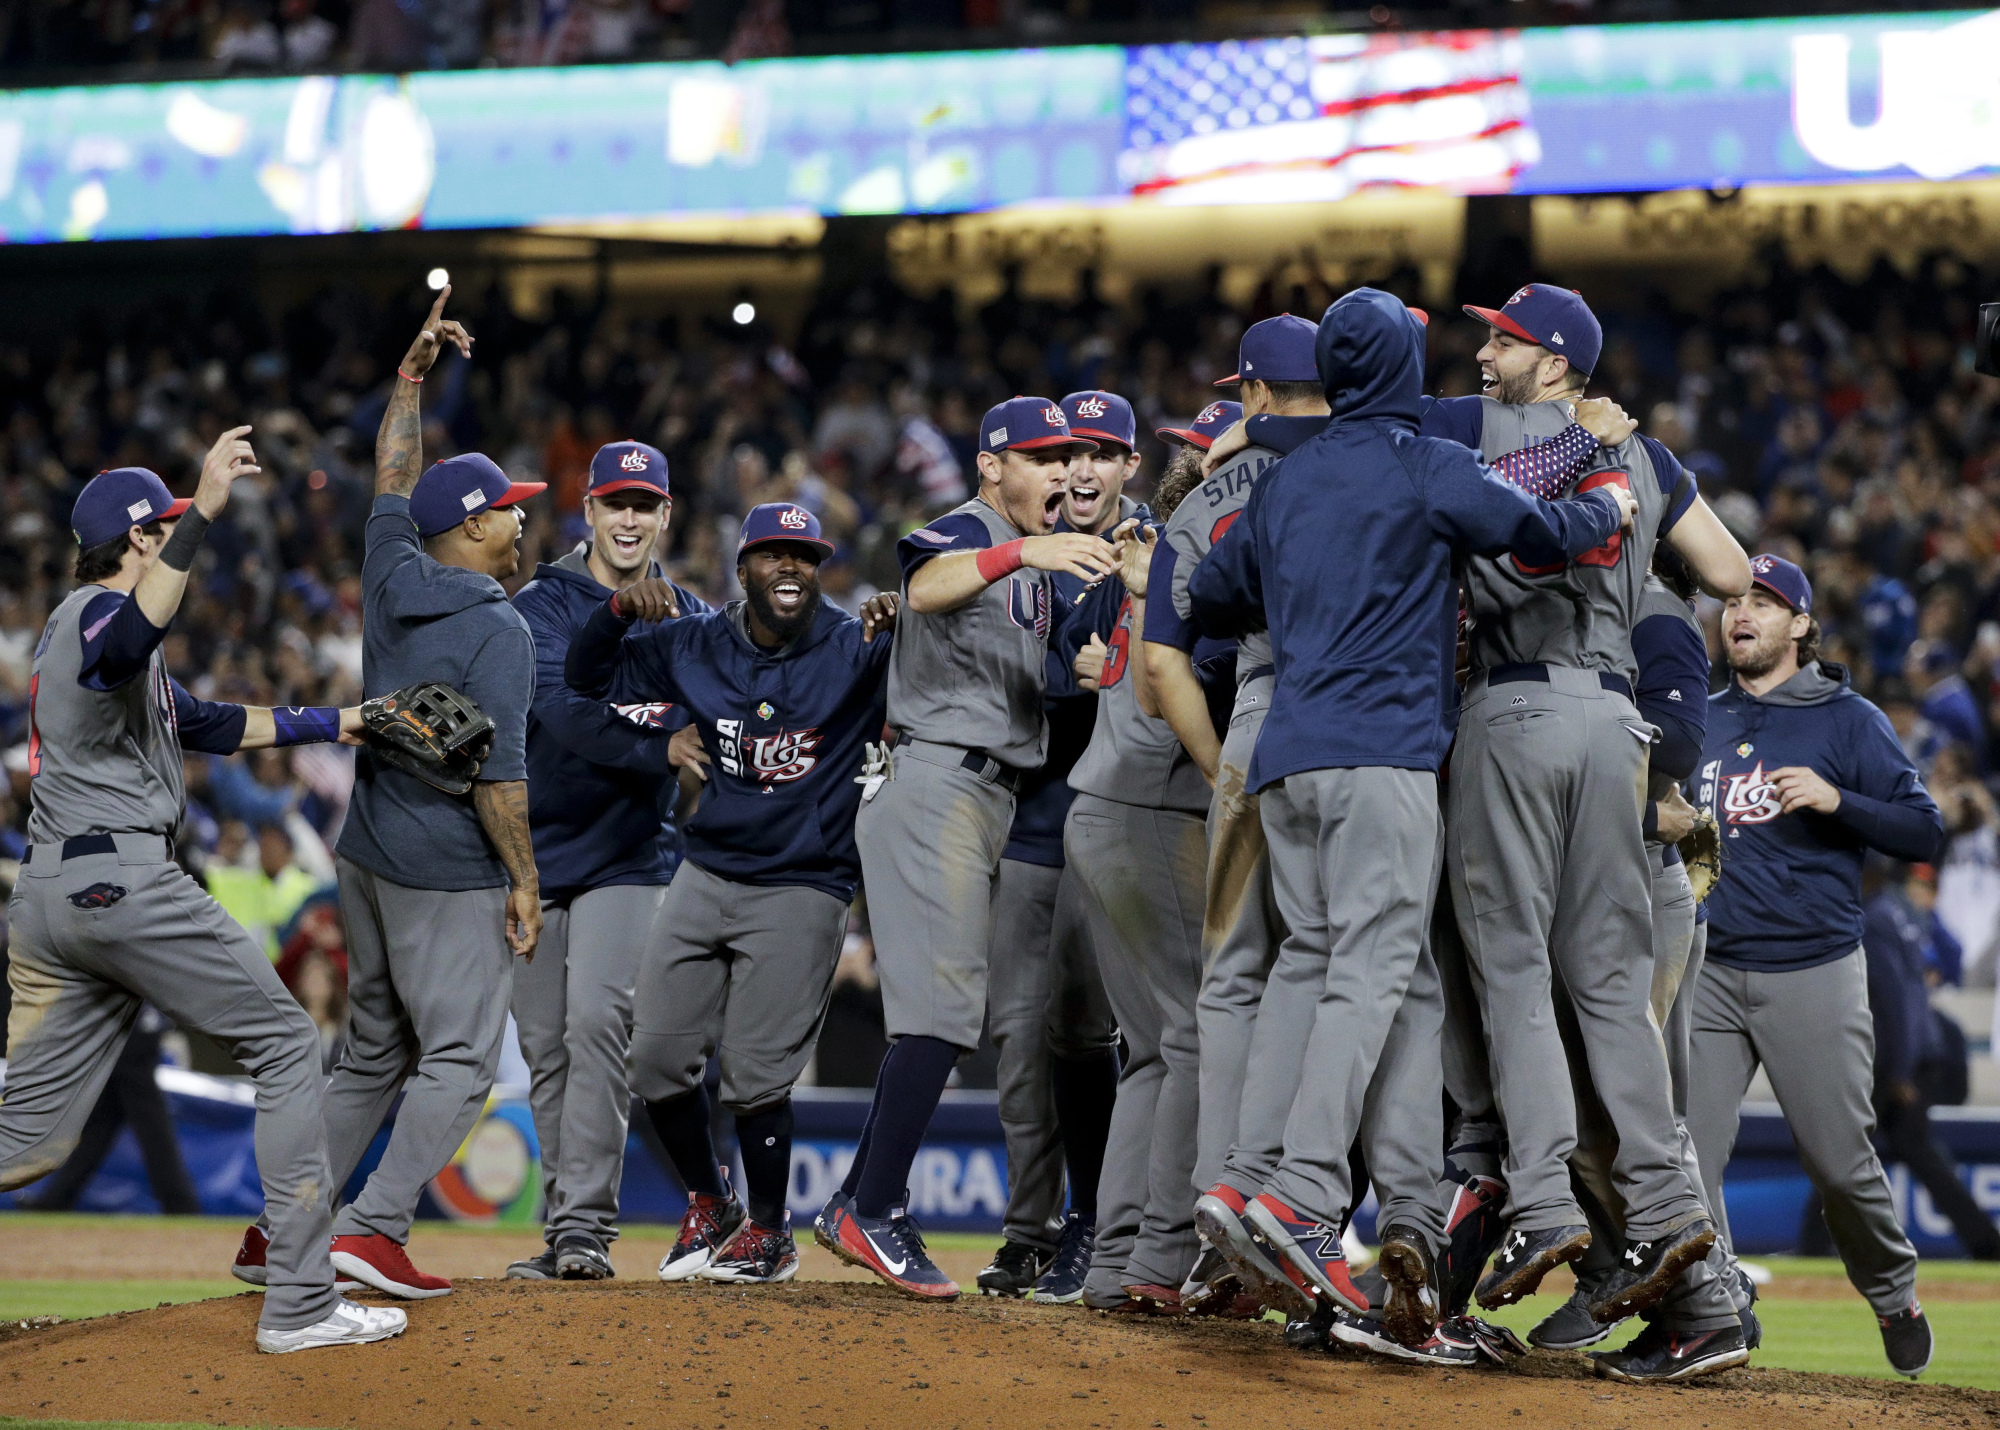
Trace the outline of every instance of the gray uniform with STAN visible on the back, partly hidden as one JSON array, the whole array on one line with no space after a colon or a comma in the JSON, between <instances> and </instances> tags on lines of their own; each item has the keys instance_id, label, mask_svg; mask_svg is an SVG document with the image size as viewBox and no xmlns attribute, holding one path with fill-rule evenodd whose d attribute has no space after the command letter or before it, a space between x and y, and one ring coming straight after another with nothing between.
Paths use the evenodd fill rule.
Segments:
<instances>
[{"instance_id":1,"label":"gray uniform with STAN visible on the back, partly hidden","mask_svg":"<svg viewBox=\"0 0 2000 1430\"><path fill-rule=\"evenodd\" d=\"M1148 596L1146 638L1194 648L1188 620L1188 576L1250 500L1256 480L1278 452L1248 446L1182 498L1160 536L1168 552L1162 600ZM1156 562L1160 566L1162 562ZM1160 612L1160 618L1154 612ZM1172 620L1166 620L1172 616ZM1250 1038L1270 964L1284 942L1284 920L1270 884L1270 860L1258 796L1244 790L1250 752L1270 710L1270 636L1256 632L1236 646L1236 706L1222 736L1216 788L1208 802L1206 912L1202 918L1202 986L1196 1022L1202 1042L1200 1136L1196 1190L1222 1176L1236 1142ZM1262 1188L1252 1188L1262 1190Z\"/></svg>"}]
</instances>

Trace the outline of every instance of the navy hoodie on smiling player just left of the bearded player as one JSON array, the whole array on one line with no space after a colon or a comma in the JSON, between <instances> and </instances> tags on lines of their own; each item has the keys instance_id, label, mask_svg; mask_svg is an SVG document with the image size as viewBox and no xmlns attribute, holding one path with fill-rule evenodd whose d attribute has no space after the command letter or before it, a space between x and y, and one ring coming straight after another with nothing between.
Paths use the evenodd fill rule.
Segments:
<instances>
[{"instance_id":1,"label":"navy hoodie on smiling player just left of the bearded player","mask_svg":"<svg viewBox=\"0 0 2000 1430\"><path fill-rule=\"evenodd\" d=\"M688 716L656 702L590 700L562 678L570 638L612 594L590 574L588 552L586 542L536 566L514 596L534 636L528 828L542 894L558 902L590 888L666 884L680 864L672 822L680 786L666 744ZM674 598L684 612L708 610L680 586Z\"/></svg>"}]
</instances>

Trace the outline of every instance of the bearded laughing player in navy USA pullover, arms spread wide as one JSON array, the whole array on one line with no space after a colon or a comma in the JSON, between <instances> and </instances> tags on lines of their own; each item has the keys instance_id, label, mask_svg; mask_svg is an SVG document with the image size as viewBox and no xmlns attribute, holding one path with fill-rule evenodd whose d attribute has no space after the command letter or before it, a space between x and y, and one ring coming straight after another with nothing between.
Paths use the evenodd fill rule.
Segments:
<instances>
[{"instance_id":1,"label":"bearded laughing player in navy USA pullover, arms spread wide","mask_svg":"<svg viewBox=\"0 0 2000 1430\"><path fill-rule=\"evenodd\" d=\"M672 700L706 748L708 790L652 922L632 1030L632 1086L688 1188L660 1280L798 1272L784 1206L792 1084L812 1060L848 928L854 772L882 730L890 652L874 636L896 616L894 596L872 598L860 618L820 598L832 550L812 512L768 502L744 518L736 548L744 600L688 610L670 582L642 580L602 602L570 644L578 692ZM710 1140L712 1054L748 1208Z\"/></svg>"}]
</instances>

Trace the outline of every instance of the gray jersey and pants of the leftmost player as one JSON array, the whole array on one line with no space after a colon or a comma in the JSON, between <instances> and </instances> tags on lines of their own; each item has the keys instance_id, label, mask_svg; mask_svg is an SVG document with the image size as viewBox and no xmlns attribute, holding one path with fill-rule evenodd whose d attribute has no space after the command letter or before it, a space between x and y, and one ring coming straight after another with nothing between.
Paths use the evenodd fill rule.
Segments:
<instances>
[{"instance_id":1,"label":"gray jersey and pants of the leftmost player","mask_svg":"<svg viewBox=\"0 0 2000 1430\"><path fill-rule=\"evenodd\" d=\"M256 1080L270 1228L258 1324L296 1330L338 1302L328 1260L338 1182L326 1158L318 1030L264 950L172 860L182 742L234 750L242 708L180 690L158 650L164 632L150 636L136 674L106 680L102 666L86 670L86 642L102 636L106 616L86 632L84 610L112 606L112 596L104 586L72 592L34 658L30 850L8 904L14 1010L0 1188L62 1166L150 1002L216 1038Z\"/></svg>"}]
</instances>

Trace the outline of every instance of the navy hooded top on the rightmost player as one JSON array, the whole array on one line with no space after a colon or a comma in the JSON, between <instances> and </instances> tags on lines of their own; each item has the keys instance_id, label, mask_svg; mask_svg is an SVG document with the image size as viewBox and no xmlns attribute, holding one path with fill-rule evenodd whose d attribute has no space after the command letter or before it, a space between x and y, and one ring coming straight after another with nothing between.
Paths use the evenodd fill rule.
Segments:
<instances>
[{"instance_id":1,"label":"navy hooded top on the rightmost player","mask_svg":"<svg viewBox=\"0 0 2000 1430\"><path fill-rule=\"evenodd\" d=\"M1766 776L1806 766L1840 790L1834 814L1782 814ZM1862 856L1934 860L1944 820L1888 716L1816 662L1764 696L1730 680L1708 700L1694 804L1722 828L1708 896L1708 956L1782 974L1846 958L1862 942Z\"/></svg>"}]
</instances>

